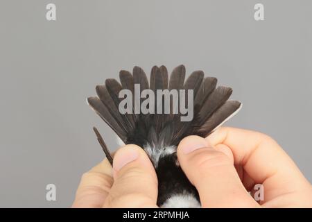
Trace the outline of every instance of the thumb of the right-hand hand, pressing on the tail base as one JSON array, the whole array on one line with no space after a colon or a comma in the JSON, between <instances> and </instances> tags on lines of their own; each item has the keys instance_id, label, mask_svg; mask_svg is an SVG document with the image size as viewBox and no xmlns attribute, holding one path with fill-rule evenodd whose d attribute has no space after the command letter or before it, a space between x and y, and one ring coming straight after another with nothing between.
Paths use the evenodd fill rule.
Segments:
<instances>
[{"instance_id":1,"label":"thumb of the right-hand hand, pressing on the tail base","mask_svg":"<svg viewBox=\"0 0 312 222\"><path fill-rule=\"evenodd\" d=\"M177 157L196 187L202 207L257 207L236 173L233 161L206 139L189 136L180 142Z\"/></svg>"}]
</instances>

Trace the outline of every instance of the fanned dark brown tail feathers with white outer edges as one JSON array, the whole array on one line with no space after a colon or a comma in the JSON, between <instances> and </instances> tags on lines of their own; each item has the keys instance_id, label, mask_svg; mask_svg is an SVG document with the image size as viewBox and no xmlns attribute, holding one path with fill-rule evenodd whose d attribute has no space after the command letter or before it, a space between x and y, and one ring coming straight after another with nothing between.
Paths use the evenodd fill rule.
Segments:
<instances>
[{"instance_id":1,"label":"fanned dark brown tail feathers with white outer edges","mask_svg":"<svg viewBox=\"0 0 312 222\"><path fill-rule=\"evenodd\" d=\"M121 83L115 79L107 79L105 85L96 87L98 97L89 97L88 102L125 144L127 142L136 143L139 140L137 144L142 146L144 141L159 141L160 138L166 142L171 141L171 145L176 145L187 135L204 137L238 112L241 103L227 101L232 94L232 89L223 86L216 87L217 79L214 77L204 78L202 71L193 71L184 83L185 72L184 65L180 65L173 69L168 78L166 67L154 66L150 72L150 82L148 83L148 78L140 67L134 67L132 74L129 71L120 71ZM134 95L135 84L139 84L141 92L144 89L152 89L154 92L157 89L193 89L193 120L180 121L181 114L173 113L173 109L176 108L173 107L172 98L170 101L171 112L165 114L164 99L157 101L157 93L155 94L155 112L162 106L161 114L135 114L135 112L121 114L119 112L119 103L121 102L119 92L121 89L130 89ZM145 98L141 98L141 102L144 100ZM186 104L188 104L187 101Z\"/></svg>"}]
</instances>

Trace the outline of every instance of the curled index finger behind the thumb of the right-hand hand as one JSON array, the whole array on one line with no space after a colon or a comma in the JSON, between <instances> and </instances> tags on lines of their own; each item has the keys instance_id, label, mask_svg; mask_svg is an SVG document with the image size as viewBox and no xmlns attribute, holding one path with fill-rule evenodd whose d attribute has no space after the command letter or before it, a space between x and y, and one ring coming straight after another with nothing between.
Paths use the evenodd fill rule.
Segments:
<instances>
[{"instance_id":1,"label":"curled index finger behind the thumb of the right-hand hand","mask_svg":"<svg viewBox=\"0 0 312 222\"><path fill-rule=\"evenodd\" d=\"M242 165L254 182L263 184L264 202L310 186L293 160L267 135L226 127L207 140L231 148L234 164Z\"/></svg>"}]
</instances>

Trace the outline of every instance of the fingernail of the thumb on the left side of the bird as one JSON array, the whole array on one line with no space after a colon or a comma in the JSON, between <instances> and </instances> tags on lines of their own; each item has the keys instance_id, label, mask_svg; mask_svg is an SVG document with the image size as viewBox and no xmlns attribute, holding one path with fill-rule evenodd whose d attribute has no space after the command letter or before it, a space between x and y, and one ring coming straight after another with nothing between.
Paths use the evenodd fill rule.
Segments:
<instances>
[{"instance_id":1,"label":"fingernail of the thumb on the left side of the bird","mask_svg":"<svg viewBox=\"0 0 312 222\"><path fill-rule=\"evenodd\" d=\"M135 148L132 147L121 148L114 155L113 168L115 171L119 171L126 164L134 160L137 160L138 157L139 153L137 150L135 150Z\"/></svg>"}]
</instances>

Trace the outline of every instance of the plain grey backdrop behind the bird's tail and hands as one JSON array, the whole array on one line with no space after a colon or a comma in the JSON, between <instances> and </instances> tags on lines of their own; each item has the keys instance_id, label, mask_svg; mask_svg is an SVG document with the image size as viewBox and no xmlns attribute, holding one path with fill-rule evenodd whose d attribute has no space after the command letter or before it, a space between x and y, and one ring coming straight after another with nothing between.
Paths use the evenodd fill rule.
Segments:
<instances>
[{"instance_id":1,"label":"plain grey backdrop behind the bird's tail and hands","mask_svg":"<svg viewBox=\"0 0 312 222\"><path fill-rule=\"evenodd\" d=\"M265 6L265 21L253 18ZM45 18L57 6L57 21ZM184 64L232 86L227 125L271 135L312 180L312 1L0 2L0 207L69 207L103 159L87 106L95 85L134 65ZM57 200L45 200L47 184Z\"/></svg>"}]
</instances>

